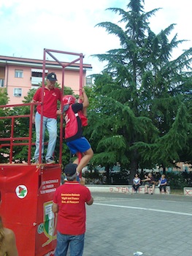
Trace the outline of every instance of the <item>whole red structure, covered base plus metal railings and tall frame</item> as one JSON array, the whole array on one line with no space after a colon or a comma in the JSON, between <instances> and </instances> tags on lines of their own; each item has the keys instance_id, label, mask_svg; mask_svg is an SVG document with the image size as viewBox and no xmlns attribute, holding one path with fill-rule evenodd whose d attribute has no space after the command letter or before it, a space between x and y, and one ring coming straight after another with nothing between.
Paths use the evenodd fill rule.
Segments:
<instances>
[{"instance_id":1,"label":"whole red structure, covered base plus metal railings and tall frame","mask_svg":"<svg viewBox=\"0 0 192 256\"><path fill-rule=\"evenodd\" d=\"M59 61L53 53L78 56L70 63ZM83 86L82 53L69 53L61 50L44 49L42 67L42 102L20 105L0 105L0 108L30 107L30 114L23 116L0 116L1 119L11 120L10 138L0 138L0 148L9 147L9 163L0 163L0 214L5 227L15 232L18 252L20 256L54 255L56 236L55 218L51 211L53 193L61 184L61 157L63 144L63 118L60 123L60 150L58 164L31 163L32 142L32 114L35 105L42 105L41 127L39 141L39 156L42 155L42 113L45 89L46 54L51 56L62 67L61 89L64 93L65 68L79 61L80 67L80 95ZM61 109L63 102L61 101ZM27 137L14 137L15 121L18 118L29 118L29 132ZM22 141L22 142L20 142ZM13 151L15 146L28 146L28 159L26 163L15 164ZM81 156L80 156L81 157Z\"/></svg>"}]
</instances>

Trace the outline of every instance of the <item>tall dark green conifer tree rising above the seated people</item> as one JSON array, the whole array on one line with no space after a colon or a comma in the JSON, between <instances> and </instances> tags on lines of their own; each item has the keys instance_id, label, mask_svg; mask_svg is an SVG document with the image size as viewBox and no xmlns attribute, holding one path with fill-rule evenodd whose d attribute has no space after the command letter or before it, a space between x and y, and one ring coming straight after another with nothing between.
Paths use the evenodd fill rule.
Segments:
<instances>
[{"instance_id":1,"label":"tall dark green conifer tree rising above the seated people","mask_svg":"<svg viewBox=\"0 0 192 256\"><path fill-rule=\"evenodd\" d=\"M131 0L127 12L110 8L121 16L120 25L97 25L115 34L120 48L95 55L107 65L95 75L88 110L91 127L85 129L96 152L92 162L119 162L131 176L138 167L191 161L192 49L171 59L185 40L177 40L177 34L169 40L174 24L159 34L151 31L148 20L158 9L144 12L143 3Z\"/></svg>"}]
</instances>

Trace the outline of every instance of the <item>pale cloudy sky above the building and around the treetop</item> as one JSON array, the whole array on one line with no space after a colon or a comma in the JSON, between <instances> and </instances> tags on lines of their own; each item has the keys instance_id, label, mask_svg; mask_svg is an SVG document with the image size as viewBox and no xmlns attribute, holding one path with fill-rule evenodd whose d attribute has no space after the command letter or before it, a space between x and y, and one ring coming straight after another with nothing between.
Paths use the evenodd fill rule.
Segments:
<instances>
[{"instance_id":1,"label":"pale cloudy sky above the building and around the treetop","mask_svg":"<svg viewBox=\"0 0 192 256\"><path fill-rule=\"evenodd\" d=\"M118 7L127 10L129 0L1 0L0 55L43 59L43 49L83 53L83 63L91 64L91 73L98 73L104 64L92 54L105 53L119 47L119 40L107 34L97 23L117 23L120 16L106 10ZM191 0L145 0L145 11L162 8L150 18L150 28L157 34L172 23L172 37L187 39L177 53L191 48ZM58 57L59 59L60 57ZM64 59L63 59L64 58ZM69 61L68 56L61 61ZM52 60L52 58L49 58ZM72 57L74 60L74 56ZM90 75L91 73L88 73Z\"/></svg>"}]
</instances>

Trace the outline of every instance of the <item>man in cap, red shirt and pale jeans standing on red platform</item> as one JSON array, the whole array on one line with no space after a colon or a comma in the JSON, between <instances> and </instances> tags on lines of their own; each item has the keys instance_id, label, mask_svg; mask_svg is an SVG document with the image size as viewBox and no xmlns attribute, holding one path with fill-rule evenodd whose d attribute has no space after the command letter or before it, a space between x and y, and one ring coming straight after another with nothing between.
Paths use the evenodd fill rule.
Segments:
<instances>
[{"instance_id":1,"label":"man in cap, red shirt and pale jeans standing on red platform","mask_svg":"<svg viewBox=\"0 0 192 256\"><path fill-rule=\"evenodd\" d=\"M53 154L57 139L57 115L61 114L61 110L57 110L57 102L61 102L61 91L58 88L55 88L56 80L57 78L55 73L52 72L47 75L47 85L45 86L43 99L42 156L44 151L45 128L47 127L47 131L49 133L47 154L45 156L45 161L47 164L55 163ZM37 89L31 102L42 102L42 87ZM34 153L34 158L37 164L39 163L41 107L42 105L37 105L37 113L35 116L33 116L33 122L35 123L36 128L36 150Z\"/></svg>"}]
</instances>

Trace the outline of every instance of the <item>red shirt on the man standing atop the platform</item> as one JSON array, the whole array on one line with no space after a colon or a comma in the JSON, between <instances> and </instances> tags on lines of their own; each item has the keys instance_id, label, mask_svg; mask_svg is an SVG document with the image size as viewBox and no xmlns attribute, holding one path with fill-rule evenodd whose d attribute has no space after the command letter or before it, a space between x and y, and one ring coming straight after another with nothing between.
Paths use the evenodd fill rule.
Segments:
<instances>
[{"instance_id":1,"label":"red shirt on the man standing atop the platform","mask_svg":"<svg viewBox=\"0 0 192 256\"><path fill-rule=\"evenodd\" d=\"M43 116L57 118L57 102L61 101L61 91L58 88L44 90ZM34 94L34 101L42 102L42 87ZM37 105L37 112L41 113L41 105Z\"/></svg>"}]
</instances>

